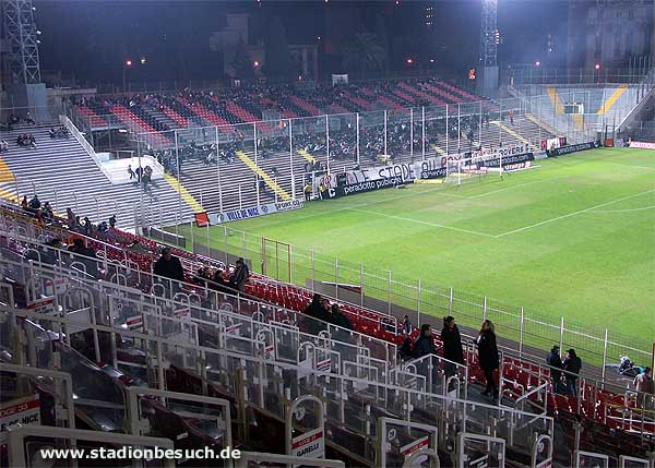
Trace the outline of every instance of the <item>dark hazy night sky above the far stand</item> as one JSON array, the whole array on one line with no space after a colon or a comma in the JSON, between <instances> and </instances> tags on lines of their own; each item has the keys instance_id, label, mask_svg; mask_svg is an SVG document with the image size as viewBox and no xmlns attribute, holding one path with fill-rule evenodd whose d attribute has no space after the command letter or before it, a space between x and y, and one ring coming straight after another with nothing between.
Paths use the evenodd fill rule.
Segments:
<instances>
[{"instance_id":1,"label":"dark hazy night sky above the far stand","mask_svg":"<svg viewBox=\"0 0 655 468\"><path fill-rule=\"evenodd\" d=\"M382 16L390 44L390 70L402 72L405 58L438 73L464 73L478 57L480 1L75 1L33 0L40 37L41 69L74 75L79 83L117 82L127 58L147 58L130 70L134 81L216 79L223 74L210 34L225 25L227 13L251 14L251 43L263 36L272 15L282 19L289 44L320 44L323 76L340 72L344 36L374 33ZM425 8L433 8L433 27L424 27ZM547 61L547 36L562 60L567 1L501 0L500 64ZM321 37L318 41L317 37ZM429 59L433 65L428 65Z\"/></svg>"}]
</instances>

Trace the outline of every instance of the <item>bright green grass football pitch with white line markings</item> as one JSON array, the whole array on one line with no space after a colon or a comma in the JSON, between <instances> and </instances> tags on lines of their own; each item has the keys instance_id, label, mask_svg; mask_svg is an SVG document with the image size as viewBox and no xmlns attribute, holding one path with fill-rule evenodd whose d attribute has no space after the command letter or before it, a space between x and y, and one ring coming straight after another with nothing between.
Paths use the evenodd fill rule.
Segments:
<instances>
[{"instance_id":1,"label":"bright green grass football pitch with white line markings","mask_svg":"<svg viewBox=\"0 0 655 468\"><path fill-rule=\"evenodd\" d=\"M326 278L334 277L331 265L338 257L340 264L362 264L367 272L391 271L394 281L420 279L524 307L526 316L553 324L563 316L582 332L608 328L616 341L650 349L655 152L602 148L534 165L458 187L409 184L310 202L227 229L212 227L209 237L212 248L228 245L235 254L261 255L259 237L291 244L294 283L307 284L311 259L299 252L313 249L314 262L330 265L315 267L327 268ZM180 233L189 236L189 228ZM206 229L195 228L196 243L206 238ZM356 269L353 284L358 284ZM380 277L383 283L386 273ZM386 299L383 291L379 296Z\"/></svg>"}]
</instances>

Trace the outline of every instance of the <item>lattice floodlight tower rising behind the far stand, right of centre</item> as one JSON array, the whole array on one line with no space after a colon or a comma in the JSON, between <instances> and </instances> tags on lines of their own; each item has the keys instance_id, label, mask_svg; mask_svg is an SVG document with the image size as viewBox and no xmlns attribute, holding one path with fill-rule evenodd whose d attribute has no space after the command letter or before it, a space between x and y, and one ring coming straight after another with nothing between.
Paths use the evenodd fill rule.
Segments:
<instances>
[{"instance_id":1,"label":"lattice floodlight tower rising behind the far stand, right of centre","mask_svg":"<svg viewBox=\"0 0 655 468\"><path fill-rule=\"evenodd\" d=\"M481 80L478 87L491 92L498 89L498 0L483 0L480 27Z\"/></svg>"}]
</instances>

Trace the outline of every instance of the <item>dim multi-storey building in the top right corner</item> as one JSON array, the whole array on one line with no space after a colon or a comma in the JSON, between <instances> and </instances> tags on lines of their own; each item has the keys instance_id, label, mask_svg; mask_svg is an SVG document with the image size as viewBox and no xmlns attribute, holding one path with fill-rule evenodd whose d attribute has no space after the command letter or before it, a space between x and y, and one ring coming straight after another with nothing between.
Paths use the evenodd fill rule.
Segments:
<instances>
[{"instance_id":1,"label":"dim multi-storey building in the top right corner","mask_svg":"<svg viewBox=\"0 0 655 468\"><path fill-rule=\"evenodd\" d=\"M569 69L627 68L655 55L654 0L570 0Z\"/></svg>"}]
</instances>

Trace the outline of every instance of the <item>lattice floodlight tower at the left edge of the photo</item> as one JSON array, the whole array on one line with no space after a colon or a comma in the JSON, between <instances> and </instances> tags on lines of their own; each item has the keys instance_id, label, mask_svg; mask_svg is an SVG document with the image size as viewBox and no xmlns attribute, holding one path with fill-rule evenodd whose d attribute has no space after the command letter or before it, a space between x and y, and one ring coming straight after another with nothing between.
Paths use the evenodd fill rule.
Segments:
<instances>
[{"instance_id":1,"label":"lattice floodlight tower at the left edge of the photo","mask_svg":"<svg viewBox=\"0 0 655 468\"><path fill-rule=\"evenodd\" d=\"M32 0L2 0L2 52L7 63L5 85L14 107L27 106L32 113L46 107L46 86L40 80L38 37ZM36 116L46 118L46 116Z\"/></svg>"}]
</instances>

